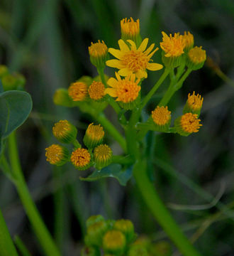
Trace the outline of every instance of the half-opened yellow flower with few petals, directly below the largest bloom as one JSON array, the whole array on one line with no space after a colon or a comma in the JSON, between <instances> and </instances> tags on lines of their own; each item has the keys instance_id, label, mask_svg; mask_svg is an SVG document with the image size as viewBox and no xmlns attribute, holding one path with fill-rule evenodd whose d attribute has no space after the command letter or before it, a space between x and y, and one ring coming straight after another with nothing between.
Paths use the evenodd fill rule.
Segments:
<instances>
[{"instance_id":1,"label":"half-opened yellow flower with few petals, directly below the largest bloom","mask_svg":"<svg viewBox=\"0 0 234 256\"><path fill-rule=\"evenodd\" d=\"M140 79L135 81L135 75L128 75L127 78L122 80L118 73L116 73L116 78L110 78L107 81L111 88L106 88L105 94L117 97L116 101L124 103L136 100L140 92L140 86L138 85Z\"/></svg>"}]
</instances>

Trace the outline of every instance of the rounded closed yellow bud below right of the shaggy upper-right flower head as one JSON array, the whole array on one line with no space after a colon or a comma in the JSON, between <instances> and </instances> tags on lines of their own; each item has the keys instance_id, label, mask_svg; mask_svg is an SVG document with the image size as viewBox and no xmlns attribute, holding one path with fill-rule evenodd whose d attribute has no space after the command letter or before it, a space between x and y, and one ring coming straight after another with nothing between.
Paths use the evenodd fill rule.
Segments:
<instances>
[{"instance_id":1,"label":"rounded closed yellow bud below right of the shaggy upper-right flower head","mask_svg":"<svg viewBox=\"0 0 234 256\"><path fill-rule=\"evenodd\" d=\"M206 50L202 50L201 46L191 48L186 58L186 65L191 70L202 68L206 61Z\"/></svg>"}]
</instances>

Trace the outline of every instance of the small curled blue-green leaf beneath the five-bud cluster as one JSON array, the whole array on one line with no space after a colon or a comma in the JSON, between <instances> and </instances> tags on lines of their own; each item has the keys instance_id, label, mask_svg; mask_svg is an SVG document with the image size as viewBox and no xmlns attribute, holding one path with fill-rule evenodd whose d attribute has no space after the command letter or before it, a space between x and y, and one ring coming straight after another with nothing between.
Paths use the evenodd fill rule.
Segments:
<instances>
[{"instance_id":1,"label":"small curled blue-green leaf beneath the five-bud cluster","mask_svg":"<svg viewBox=\"0 0 234 256\"><path fill-rule=\"evenodd\" d=\"M120 164L111 164L104 169L96 170L87 178L80 177L81 181L96 181L99 178L116 178L122 186L126 186L126 183L132 176L133 170L132 167L122 171L122 166Z\"/></svg>"}]
</instances>

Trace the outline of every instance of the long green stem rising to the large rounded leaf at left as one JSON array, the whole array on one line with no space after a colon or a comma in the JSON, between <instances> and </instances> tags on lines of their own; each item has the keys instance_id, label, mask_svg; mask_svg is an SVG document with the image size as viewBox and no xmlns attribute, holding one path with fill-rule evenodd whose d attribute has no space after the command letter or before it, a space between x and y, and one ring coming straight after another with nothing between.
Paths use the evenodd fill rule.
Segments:
<instances>
[{"instance_id":1,"label":"long green stem rising to the large rounded leaf at left","mask_svg":"<svg viewBox=\"0 0 234 256\"><path fill-rule=\"evenodd\" d=\"M16 189L23 203L23 207L26 210L30 223L33 226L33 230L38 237L40 245L45 251L45 255L59 256L60 252L57 250L55 242L52 240L45 223L38 213L38 209L30 196L26 181L23 177L23 172L21 170L21 164L18 157L15 132L9 136L9 159L13 174L16 176Z\"/></svg>"}]
</instances>

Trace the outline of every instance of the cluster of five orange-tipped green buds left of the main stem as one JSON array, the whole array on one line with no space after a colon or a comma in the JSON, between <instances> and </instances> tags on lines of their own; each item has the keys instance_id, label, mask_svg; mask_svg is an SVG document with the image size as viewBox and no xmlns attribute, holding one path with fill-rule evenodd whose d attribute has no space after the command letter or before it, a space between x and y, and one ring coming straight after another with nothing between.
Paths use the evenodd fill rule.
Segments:
<instances>
[{"instance_id":1,"label":"cluster of five orange-tipped green buds left of the main stem","mask_svg":"<svg viewBox=\"0 0 234 256\"><path fill-rule=\"evenodd\" d=\"M91 166L96 169L102 169L111 164L112 150L102 144L104 139L104 129L101 125L89 124L84 135L84 145L87 149L82 148L77 141L77 128L67 120L60 120L52 127L52 133L55 138L64 144L73 144L74 149L69 153L69 149L60 144L52 144L45 149L45 156L50 164L62 166L67 161L71 161L79 171L86 170Z\"/></svg>"}]
</instances>

